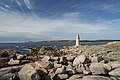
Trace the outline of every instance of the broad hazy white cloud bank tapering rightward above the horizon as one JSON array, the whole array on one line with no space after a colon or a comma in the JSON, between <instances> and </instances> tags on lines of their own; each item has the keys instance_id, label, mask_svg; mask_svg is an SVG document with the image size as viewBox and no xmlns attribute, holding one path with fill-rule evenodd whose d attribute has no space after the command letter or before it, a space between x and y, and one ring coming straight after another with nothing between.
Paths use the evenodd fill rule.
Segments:
<instances>
[{"instance_id":1,"label":"broad hazy white cloud bank tapering rightward above the horizon","mask_svg":"<svg viewBox=\"0 0 120 80\"><path fill-rule=\"evenodd\" d=\"M0 37L31 39L69 39L75 34L96 34L105 30L101 25L75 22L74 20L35 18L0 11ZM70 36L71 35L71 36Z\"/></svg>"}]
</instances>

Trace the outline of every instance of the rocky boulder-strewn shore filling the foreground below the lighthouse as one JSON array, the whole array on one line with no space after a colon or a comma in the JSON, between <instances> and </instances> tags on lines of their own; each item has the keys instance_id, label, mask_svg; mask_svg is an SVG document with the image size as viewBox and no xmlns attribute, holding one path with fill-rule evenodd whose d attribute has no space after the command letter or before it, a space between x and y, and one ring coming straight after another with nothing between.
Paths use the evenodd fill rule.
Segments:
<instances>
[{"instance_id":1,"label":"rocky boulder-strewn shore filling the foreground below the lighthouse","mask_svg":"<svg viewBox=\"0 0 120 80\"><path fill-rule=\"evenodd\" d=\"M120 43L0 51L0 80L120 80Z\"/></svg>"}]
</instances>

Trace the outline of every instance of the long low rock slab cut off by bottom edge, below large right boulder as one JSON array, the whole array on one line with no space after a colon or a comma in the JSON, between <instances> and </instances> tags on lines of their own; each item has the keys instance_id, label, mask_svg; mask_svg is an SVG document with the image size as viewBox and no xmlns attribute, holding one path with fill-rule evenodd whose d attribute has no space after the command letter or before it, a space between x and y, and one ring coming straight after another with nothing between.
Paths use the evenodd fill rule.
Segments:
<instances>
[{"instance_id":1,"label":"long low rock slab cut off by bottom edge, below large right boulder","mask_svg":"<svg viewBox=\"0 0 120 80\"><path fill-rule=\"evenodd\" d=\"M84 76L82 80L112 80L104 76Z\"/></svg>"}]
</instances>

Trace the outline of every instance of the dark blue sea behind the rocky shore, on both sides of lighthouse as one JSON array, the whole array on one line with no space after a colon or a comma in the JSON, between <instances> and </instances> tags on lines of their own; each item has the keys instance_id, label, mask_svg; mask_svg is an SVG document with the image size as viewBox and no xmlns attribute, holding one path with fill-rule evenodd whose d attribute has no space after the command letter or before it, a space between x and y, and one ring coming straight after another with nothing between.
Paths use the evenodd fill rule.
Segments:
<instances>
[{"instance_id":1,"label":"dark blue sea behind the rocky shore, on both sides of lighthouse","mask_svg":"<svg viewBox=\"0 0 120 80\"><path fill-rule=\"evenodd\" d=\"M107 42L81 42L81 45L104 45ZM75 42L28 42L28 43L0 43L0 50L13 49L20 53L29 53L31 49L36 49L42 46L58 47L74 46Z\"/></svg>"}]
</instances>

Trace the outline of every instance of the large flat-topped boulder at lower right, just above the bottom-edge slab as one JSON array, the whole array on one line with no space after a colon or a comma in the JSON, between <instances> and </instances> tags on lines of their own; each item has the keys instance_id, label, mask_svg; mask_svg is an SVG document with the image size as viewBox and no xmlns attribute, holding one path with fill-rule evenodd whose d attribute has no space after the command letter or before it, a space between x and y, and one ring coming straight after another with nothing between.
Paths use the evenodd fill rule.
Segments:
<instances>
[{"instance_id":1,"label":"large flat-topped boulder at lower right, just above the bottom-edge slab","mask_svg":"<svg viewBox=\"0 0 120 80\"><path fill-rule=\"evenodd\" d=\"M92 63L90 65L90 71L92 74L107 74L109 70L105 68L105 64L103 63Z\"/></svg>"}]
</instances>

